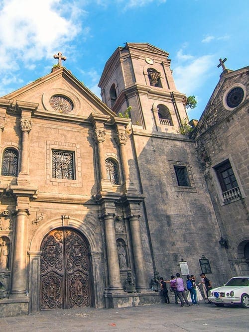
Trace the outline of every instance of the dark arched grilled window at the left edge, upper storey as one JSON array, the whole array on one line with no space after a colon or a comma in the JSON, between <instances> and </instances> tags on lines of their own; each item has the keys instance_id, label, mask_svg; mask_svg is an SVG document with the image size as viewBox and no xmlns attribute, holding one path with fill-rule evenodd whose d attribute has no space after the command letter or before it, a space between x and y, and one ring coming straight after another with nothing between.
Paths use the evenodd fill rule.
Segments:
<instances>
[{"instance_id":1,"label":"dark arched grilled window at the left edge, upper storey","mask_svg":"<svg viewBox=\"0 0 249 332\"><path fill-rule=\"evenodd\" d=\"M1 175L17 176L18 151L13 148L6 148L3 151L1 163Z\"/></svg>"}]
</instances>

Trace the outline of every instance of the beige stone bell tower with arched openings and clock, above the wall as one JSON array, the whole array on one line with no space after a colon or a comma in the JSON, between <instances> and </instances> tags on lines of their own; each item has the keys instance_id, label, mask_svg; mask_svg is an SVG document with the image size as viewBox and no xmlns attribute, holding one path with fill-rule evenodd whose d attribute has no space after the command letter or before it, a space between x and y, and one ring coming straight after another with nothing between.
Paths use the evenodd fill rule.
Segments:
<instances>
[{"instance_id":1,"label":"beige stone bell tower with arched openings and clock, above the wall","mask_svg":"<svg viewBox=\"0 0 249 332\"><path fill-rule=\"evenodd\" d=\"M177 132L186 96L176 90L168 55L148 43L118 47L99 82L103 102L116 114L131 107L132 124L146 131Z\"/></svg>"}]
</instances>

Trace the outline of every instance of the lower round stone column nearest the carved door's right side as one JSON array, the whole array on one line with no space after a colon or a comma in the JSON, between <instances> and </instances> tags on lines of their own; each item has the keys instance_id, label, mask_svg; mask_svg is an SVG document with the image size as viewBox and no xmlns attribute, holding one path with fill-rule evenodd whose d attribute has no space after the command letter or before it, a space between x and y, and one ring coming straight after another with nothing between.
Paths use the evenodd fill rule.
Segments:
<instances>
[{"instance_id":1,"label":"lower round stone column nearest the carved door's right side","mask_svg":"<svg viewBox=\"0 0 249 332\"><path fill-rule=\"evenodd\" d=\"M109 290L119 291L122 290L122 284L120 280L120 265L116 244L114 214L106 213L102 217L105 222Z\"/></svg>"}]
</instances>

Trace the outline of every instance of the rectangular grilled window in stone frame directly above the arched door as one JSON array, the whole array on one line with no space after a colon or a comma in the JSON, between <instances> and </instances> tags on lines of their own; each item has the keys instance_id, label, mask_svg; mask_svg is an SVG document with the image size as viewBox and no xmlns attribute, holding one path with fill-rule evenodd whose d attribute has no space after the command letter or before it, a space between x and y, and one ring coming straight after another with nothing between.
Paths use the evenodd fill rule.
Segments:
<instances>
[{"instance_id":1,"label":"rectangular grilled window in stone frame directly above the arched door","mask_svg":"<svg viewBox=\"0 0 249 332\"><path fill-rule=\"evenodd\" d=\"M52 150L52 176L54 179L75 180L74 152Z\"/></svg>"}]
</instances>

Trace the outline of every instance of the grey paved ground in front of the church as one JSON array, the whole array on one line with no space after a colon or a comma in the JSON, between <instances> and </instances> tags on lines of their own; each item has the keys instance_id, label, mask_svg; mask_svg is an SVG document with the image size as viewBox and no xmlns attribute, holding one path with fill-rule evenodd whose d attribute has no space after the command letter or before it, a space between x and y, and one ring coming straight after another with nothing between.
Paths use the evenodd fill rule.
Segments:
<instances>
[{"instance_id":1,"label":"grey paved ground in front of the church","mask_svg":"<svg viewBox=\"0 0 249 332\"><path fill-rule=\"evenodd\" d=\"M0 319L0 332L249 331L249 310L200 303L183 307L158 304L122 309L83 308L43 311Z\"/></svg>"}]
</instances>

